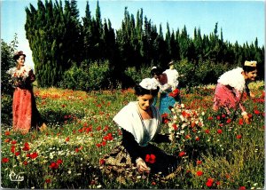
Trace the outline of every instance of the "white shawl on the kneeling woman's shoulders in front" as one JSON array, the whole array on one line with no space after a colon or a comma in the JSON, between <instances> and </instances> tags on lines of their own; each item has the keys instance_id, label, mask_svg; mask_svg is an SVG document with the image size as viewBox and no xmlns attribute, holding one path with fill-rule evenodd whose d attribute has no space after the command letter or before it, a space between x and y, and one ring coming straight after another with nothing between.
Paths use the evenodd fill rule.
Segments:
<instances>
[{"instance_id":1,"label":"white shawl on the kneeling woman's shoulders in front","mask_svg":"<svg viewBox=\"0 0 266 190\"><path fill-rule=\"evenodd\" d=\"M151 139L160 131L160 114L156 107L151 106L153 118L156 119L155 130L149 134ZM121 109L121 111L113 117L113 121L122 129L129 131L140 146L145 146L145 124L137 108L137 101L129 102L129 104Z\"/></svg>"}]
</instances>

